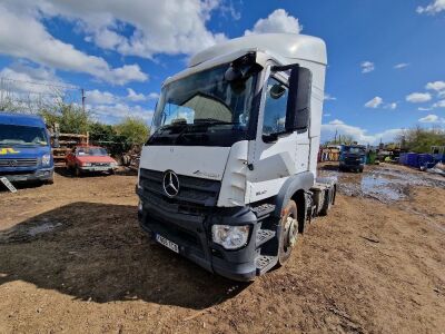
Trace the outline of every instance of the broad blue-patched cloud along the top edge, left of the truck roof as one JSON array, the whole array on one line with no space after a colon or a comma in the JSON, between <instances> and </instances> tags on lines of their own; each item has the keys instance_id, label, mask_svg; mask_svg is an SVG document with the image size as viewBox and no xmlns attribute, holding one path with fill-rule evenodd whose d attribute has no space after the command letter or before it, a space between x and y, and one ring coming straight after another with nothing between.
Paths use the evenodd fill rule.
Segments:
<instances>
[{"instance_id":1,"label":"broad blue-patched cloud along the top edge, left of the truck roof","mask_svg":"<svg viewBox=\"0 0 445 334\"><path fill-rule=\"evenodd\" d=\"M222 0L107 0L106 6L102 0L9 1L71 21L87 41L126 56L190 55L226 39L206 27L214 11L227 11Z\"/></svg>"}]
</instances>

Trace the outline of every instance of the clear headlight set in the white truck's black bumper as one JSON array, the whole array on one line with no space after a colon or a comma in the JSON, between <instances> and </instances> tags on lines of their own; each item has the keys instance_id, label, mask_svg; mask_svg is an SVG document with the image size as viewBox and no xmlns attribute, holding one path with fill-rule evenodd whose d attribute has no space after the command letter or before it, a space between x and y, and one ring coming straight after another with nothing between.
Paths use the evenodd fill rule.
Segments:
<instances>
[{"instance_id":1,"label":"clear headlight set in the white truck's black bumper","mask_svg":"<svg viewBox=\"0 0 445 334\"><path fill-rule=\"evenodd\" d=\"M211 238L214 243L221 245L226 249L237 249L247 244L249 229L249 225L214 225L211 226Z\"/></svg>"}]
</instances>

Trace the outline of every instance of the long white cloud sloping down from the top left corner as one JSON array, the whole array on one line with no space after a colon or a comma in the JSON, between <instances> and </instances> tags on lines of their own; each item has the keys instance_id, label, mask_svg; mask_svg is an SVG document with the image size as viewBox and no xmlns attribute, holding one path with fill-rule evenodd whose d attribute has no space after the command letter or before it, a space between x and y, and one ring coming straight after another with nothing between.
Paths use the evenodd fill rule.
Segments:
<instances>
[{"instance_id":1,"label":"long white cloud sloping down from the top left corner","mask_svg":"<svg viewBox=\"0 0 445 334\"><path fill-rule=\"evenodd\" d=\"M111 68L103 58L89 56L52 37L40 21L40 12L34 8L37 3L41 7L50 4L43 0L36 1L36 4L26 0L0 4L0 53L26 58L50 68L89 73L118 85L148 79L138 65Z\"/></svg>"}]
</instances>

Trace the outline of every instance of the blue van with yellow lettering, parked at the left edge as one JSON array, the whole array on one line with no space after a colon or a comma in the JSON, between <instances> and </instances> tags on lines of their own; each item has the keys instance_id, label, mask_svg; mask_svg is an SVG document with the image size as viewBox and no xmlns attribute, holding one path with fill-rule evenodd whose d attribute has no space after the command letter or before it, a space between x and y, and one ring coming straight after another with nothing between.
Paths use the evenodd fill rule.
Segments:
<instances>
[{"instance_id":1,"label":"blue van with yellow lettering, parked at the left edge","mask_svg":"<svg viewBox=\"0 0 445 334\"><path fill-rule=\"evenodd\" d=\"M50 136L41 117L0 112L0 177L53 183Z\"/></svg>"}]
</instances>

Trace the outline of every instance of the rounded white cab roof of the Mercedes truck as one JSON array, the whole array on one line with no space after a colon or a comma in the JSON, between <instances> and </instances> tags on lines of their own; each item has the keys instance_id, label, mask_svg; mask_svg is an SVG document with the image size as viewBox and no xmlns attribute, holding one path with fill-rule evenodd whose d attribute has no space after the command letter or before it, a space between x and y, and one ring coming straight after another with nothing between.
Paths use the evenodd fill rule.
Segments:
<instances>
[{"instance_id":1,"label":"rounded white cab roof of the Mercedes truck","mask_svg":"<svg viewBox=\"0 0 445 334\"><path fill-rule=\"evenodd\" d=\"M326 45L317 38L296 33L261 33L235 38L212 46L195 55L189 66L194 67L207 60L239 50L264 51L289 63L296 59L327 65Z\"/></svg>"}]
</instances>

